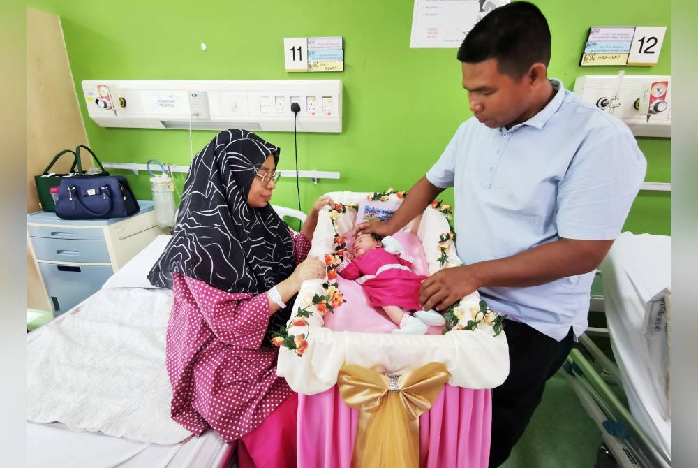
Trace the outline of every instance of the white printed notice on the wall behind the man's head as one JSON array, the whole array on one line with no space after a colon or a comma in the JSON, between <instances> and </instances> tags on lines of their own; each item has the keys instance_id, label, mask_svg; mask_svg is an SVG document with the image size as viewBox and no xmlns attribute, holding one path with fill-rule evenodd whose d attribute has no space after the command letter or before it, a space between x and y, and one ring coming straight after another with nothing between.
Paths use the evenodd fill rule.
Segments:
<instances>
[{"instance_id":1,"label":"white printed notice on the wall behind the man's head","mask_svg":"<svg viewBox=\"0 0 698 468\"><path fill-rule=\"evenodd\" d=\"M415 0L412 48L458 48L463 38L491 10L509 0Z\"/></svg>"}]
</instances>

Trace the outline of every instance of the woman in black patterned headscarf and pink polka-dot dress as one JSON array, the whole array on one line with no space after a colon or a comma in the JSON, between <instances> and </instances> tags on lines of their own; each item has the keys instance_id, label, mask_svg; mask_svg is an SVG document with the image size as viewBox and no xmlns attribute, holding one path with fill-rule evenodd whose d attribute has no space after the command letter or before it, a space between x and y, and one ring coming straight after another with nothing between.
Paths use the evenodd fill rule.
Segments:
<instances>
[{"instance_id":1,"label":"woman in black patterned headscarf and pink polka-dot dress","mask_svg":"<svg viewBox=\"0 0 698 468\"><path fill-rule=\"evenodd\" d=\"M193 159L172 240L149 274L172 287L167 368L172 419L239 441L239 466L295 466L297 395L276 376L272 328L306 279L325 276L310 249L320 198L293 235L269 205L279 148L228 130Z\"/></svg>"}]
</instances>

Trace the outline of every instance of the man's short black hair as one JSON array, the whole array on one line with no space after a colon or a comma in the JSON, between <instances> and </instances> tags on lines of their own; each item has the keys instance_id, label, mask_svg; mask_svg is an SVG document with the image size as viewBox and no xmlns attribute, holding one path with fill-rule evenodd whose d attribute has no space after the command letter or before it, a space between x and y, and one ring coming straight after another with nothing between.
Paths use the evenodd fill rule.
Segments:
<instances>
[{"instance_id":1,"label":"man's short black hair","mask_svg":"<svg viewBox=\"0 0 698 468\"><path fill-rule=\"evenodd\" d=\"M495 8L468 33L458 59L477 64L496 59L499 71L521 78L531 65L550 61L550 29L543 13L527 1Z\"/></svg>"}]
</instances>

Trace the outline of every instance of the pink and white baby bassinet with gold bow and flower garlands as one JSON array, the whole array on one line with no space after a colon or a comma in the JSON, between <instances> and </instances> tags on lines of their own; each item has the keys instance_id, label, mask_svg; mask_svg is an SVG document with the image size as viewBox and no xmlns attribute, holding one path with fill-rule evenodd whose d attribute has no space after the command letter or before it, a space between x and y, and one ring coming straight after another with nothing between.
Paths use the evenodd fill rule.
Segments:
<instances>
[{"instance_id":1,"label":"pink and white baby bassinet with gold bow and flower garlands","mask_svg":"<svg viewBox=\"0 0 698 468\"><path fill-rule=\"evenodd\" d=\"M321 210L310 255L325 259L328 278L303 284L276 337L277 373L299 393L298 466L487 467L491 388L509 372L500 318L475 292L447 311L447 332L390 334L394 324L360 286L337 278L336 265L355 207L401 203L403 193L327 196L336 206ZM449 215L435 201L396 233L418 274L461 265Z\"/></svg>"}]
</instances>

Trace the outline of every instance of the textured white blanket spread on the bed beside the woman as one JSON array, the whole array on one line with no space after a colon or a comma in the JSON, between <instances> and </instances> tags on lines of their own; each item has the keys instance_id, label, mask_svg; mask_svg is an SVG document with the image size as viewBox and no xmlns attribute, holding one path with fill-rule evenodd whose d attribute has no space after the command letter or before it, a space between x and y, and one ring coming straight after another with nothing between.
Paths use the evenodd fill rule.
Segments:
<instances>
[{"instance_id":1,"label":"textured white blanket spread on the bed beside the woman","mask_svg":"<svg viewBox=\"0 0 698 468\"><path fill-rule=\"evenodd\" d=\"M103 289L27 335L27 419L150 444L191 432L170 418L172 291Z\"/></svg>"}]
</instances>

